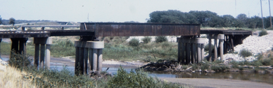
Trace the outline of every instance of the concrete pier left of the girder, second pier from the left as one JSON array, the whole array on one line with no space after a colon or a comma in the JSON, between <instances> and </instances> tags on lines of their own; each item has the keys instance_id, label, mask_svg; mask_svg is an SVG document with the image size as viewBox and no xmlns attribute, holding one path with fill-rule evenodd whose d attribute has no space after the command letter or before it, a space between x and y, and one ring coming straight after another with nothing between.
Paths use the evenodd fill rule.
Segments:
<instances>
[{"instance_id":1,"label":"concrete pier left of the girder, second pier from the left","mask_svg":"<svg viewBox=\"0 0 273 88\"><path fill-rule=\"evenodd\" d=\"M34 65L40 68L50 68L50 44L52 44L52 38L34 38L35 55Z\"/></svg>"}]
</instances>

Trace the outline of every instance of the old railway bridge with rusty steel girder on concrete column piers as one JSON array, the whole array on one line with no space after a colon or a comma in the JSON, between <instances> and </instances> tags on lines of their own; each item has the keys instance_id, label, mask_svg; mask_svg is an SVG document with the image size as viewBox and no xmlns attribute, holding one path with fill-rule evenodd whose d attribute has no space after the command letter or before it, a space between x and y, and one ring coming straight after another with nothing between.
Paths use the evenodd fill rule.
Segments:
<instances>
[{"instance_id":1,"label":"old railway bridge with rusty steel girder on concrete column piers","mask_svg":"<svg viewBox=\"0 0 273 88\"><path fill-rule=\"evenodd\" d=\"M41 30L25 31L26 27L41 27ZM44 30L44 27L80 27L80 30ZM122 37L122 36L181 36L178 42L178 62L182 64L198 63L204 58L204 38L200 34L208 34L208 39L216 39L214 54L217 58L218 51L223 58L227 45L236 44L234 40L243 40L251 31L232 30L200 30L200 24L171 24L171 23L81 23L80 26L22 26L22 31L0 31L0 38L10 38L11 50L21 54L26 53L28 38L34 38L35 59L38 67L49 67L50 44L53 36L80 36L75 41L76 62L75 74L86 74L87 71L102 70L102 50L104 42L98 37ZM242 37L241 37L242 36ZM217 39L219 45L217 47ZM233 43L234 42L234 43ZM240 44L240 43L237 43ZM224 47L224 46L227 47ZM220 48L218 50L217 48ZM224 48L224 49L223 49ZM218 50L218 51L217 51ZM211 57L211 47L210 47ZM89 64L87 64L89 60ZM212 60L212 59L209 59ZM77 68L80 67L80 68ZM80 73L77 73L80 72Z\"/></svg>"}]
</instances>

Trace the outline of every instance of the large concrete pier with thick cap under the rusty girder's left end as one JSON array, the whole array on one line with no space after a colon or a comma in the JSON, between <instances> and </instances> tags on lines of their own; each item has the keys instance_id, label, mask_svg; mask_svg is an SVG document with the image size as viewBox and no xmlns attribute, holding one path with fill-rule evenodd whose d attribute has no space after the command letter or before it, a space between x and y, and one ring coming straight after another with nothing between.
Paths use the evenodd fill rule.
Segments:
<instances>
[{"instance_id":1,"label":"large concrete pier with thick cap under the rusty girder's left end","mask_svg":"<svg viewBox=\"0 0 273 88\"><path fill-rule=\"evenodd\" d=\"M88 71L102 70L102 50L104 42L75 41L75 74L87 74ZM89 55L88 55L89 54ZM88 59L89 57L89 59ZM88 64L89 60L89 64Z\"/></svg>"}]
</instances>

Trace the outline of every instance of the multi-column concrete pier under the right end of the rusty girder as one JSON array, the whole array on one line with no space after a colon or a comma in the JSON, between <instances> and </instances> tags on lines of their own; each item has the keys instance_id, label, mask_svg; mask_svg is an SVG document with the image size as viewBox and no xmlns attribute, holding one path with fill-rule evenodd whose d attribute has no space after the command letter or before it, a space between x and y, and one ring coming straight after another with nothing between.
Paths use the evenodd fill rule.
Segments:
<instances>
[{"instance_id":1,"label":"multi-column concrete pier under the right end of the rusty girder","mask_svg":"<svg viewBox=\"0 0 273 88\"><path fill-rule=\"evenodd\" d=\"M178 62L181 64L198 63L204 59L203 38L177 38ZM197 48L196 48L197 47Z\"/></svg>"}]
</instances>

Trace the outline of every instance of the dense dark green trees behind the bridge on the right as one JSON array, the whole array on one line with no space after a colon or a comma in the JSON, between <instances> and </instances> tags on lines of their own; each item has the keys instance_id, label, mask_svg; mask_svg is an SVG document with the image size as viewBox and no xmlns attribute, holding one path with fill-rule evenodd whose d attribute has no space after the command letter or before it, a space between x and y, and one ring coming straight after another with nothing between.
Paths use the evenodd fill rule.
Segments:
<instances>
[{"instance_id":1,"label":"dense dark green trees behind the bridge on the right","mask_svg":"<svg viewBox=\"0 0 273 88\"><path fill-rule=\"evenodd\" d=\"M259 16L247 17L239 14L236 18L232 15L219 16L211 11L190 11L179 10L154 11L149 14L148 23L182 23L201 24L202 27L238 27L238 28L262 28L262 18ZM265 28L271 27L270 16L264 17Z\"/></svg>"}]
</instances>

